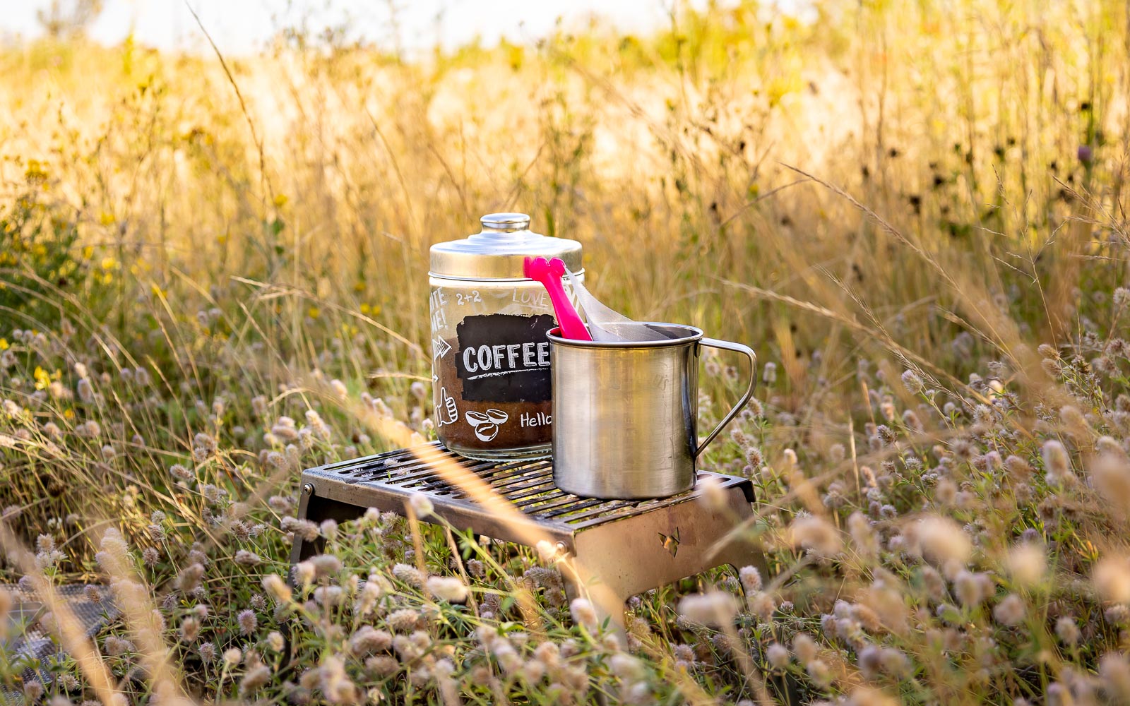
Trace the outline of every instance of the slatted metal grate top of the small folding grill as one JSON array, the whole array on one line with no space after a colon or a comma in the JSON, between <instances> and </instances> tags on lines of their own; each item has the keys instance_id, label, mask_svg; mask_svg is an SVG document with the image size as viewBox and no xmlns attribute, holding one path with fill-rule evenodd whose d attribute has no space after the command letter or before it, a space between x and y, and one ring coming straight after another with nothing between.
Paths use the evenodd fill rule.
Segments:
<instances>
[{"instance_id":1,"label":"slatted metal grate top of the small folding grill","mask_svg":"<svg viewBox=\"0 0 1130 706\"><path fill-rule=\"evenodd\" d=\"M548 460L476 461L447 451L438 442L424 447L429 447L428 455L438 452L446 460L462 464L539 525L548 525L570 533L685 503L695 497L692 490L650 500L582 498L554 486L553 464ZM716 477L723 488L740 486L747 499L753 500L753 489L748 480L720 473L698 472L699 480L707 476ZM331 463L307 470L305 477L333 485L351 486L350 495L357 491L364 495L366 489L381 495L393 494L403 497L424 493L436 506L475 505L460 488L447 483L433 465L420 460L412 448L400 448L353 461Z\"/></svg>"}]
</instances>

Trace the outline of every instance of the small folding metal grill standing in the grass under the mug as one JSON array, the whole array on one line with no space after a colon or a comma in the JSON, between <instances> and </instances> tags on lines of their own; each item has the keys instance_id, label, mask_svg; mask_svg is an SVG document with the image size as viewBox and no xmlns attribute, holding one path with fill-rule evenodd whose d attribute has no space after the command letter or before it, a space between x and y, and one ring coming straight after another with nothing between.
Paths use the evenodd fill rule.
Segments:
<instances>
[{"instance_id":1,"label":"small folding metal grill standing in the grass under the mug","mask_svg":"<svg viewBox=\"0 0 1130 706\"><path fill-rule=\"evenodd\" d=\"M466 489L444 480L438 465L451 461L481 479L521 513L521 520L497 516L473 502ZM694 502L707 477L716 479L723 498L710 508ZM529 543L527 530L531 529L550 537L623 604L637 593L723 564L762 566L760 554L748 544L719 544L738 522L751 516L753 485L745 478L704 471L698 472L698 481L696 490L669 498L582 498L554 486L550 461L475 461L433 443L304 471L298 517L345 522L370 507L403 514L409 497L423 493L435 514L455 528L516 543ZM318 551L319 542L295 538L292 563ZM580 590L566 583L571 595ZM611 617L623 620L623 615Z\"/></svg>"}]
</instances>

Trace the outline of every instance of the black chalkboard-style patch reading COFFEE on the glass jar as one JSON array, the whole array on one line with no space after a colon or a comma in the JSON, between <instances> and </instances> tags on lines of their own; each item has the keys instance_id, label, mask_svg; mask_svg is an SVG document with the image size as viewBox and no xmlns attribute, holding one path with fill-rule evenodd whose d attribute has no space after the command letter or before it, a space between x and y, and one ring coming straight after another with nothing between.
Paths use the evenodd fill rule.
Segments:
<instances>
[{"instance_id":1,"label":"black chalkboard-style patch reading COFFEE on the glass jar","mask_svg":"<svg viewBox=\"0 0 1130 706\"><path fill-rule=\"evenodd\" d=\"M550 399L549 314L467 316L455 326L455 371L470 402L546 402Z\"/></svg>"}]
</instances>

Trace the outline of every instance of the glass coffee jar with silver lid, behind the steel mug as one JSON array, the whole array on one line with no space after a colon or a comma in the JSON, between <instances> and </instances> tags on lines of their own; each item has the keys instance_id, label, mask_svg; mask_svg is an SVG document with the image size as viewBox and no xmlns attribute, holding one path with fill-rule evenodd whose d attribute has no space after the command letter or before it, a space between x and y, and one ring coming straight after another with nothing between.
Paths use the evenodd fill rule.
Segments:
<instances>
[{"instance_id":1,"label":"glass coffee jar with silver lid, behind the steel mug","mask_svg":"<svg viewBox=\"0 0 1130 706\"><path fill-rule=\"evenodd\" d=\"M472 459L546 457L553 439L549 294L525 258L560 258L577 277L581 244L530 232L525 213L490 213L483 232L432 246L435 429ZM566 291L568 281L565 282Z\"/></svg>"}]
</instances>

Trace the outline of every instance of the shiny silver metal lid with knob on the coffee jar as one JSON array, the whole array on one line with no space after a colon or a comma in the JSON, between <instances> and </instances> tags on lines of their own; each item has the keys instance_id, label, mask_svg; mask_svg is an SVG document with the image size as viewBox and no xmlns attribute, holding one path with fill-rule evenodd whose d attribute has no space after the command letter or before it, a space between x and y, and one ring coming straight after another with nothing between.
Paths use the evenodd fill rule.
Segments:
<instances>
[{"instance_id":1,"label":"shiny silver metal lid with knob on the coffee jar","mask_svg":"<svg viewBox=\"0 0 1130 706\"><path fill-rule=\"evenodd\" d=\"M461 241L432 246L433 277L457 279L525 279L527 258L560 258L576 273L581 268L581 244L530 230L525 213L488 213L479 219L483 233Z\"/></svg>"}]
</instances>

